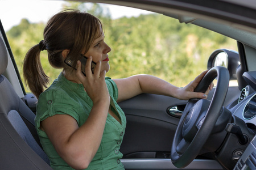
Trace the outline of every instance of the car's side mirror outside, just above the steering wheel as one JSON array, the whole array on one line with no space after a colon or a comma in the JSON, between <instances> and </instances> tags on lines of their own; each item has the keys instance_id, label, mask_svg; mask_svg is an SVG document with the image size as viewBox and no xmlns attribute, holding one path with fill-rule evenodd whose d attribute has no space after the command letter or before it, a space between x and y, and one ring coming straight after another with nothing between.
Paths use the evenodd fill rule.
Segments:
<instances>
[{"instance_id":1,"label":"car's side mirror outside, just above the steering wheel","mask_svg":"<svg viewBox=\"0 0 256 170\"><path fill-rule=\"evenodd\" d=\"M236 80L237 67L240 65L238 52L229 49L217 49L208 59L207 69L214 66L224 66L229 70L230 80Z\"/></svg>"}]
</instances>

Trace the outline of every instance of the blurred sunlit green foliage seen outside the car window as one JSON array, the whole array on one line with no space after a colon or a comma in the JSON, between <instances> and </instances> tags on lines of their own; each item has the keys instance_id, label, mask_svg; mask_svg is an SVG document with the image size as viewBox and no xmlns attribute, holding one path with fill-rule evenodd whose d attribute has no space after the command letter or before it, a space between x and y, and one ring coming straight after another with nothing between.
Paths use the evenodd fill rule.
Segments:
<instances>
[{"instance_id":1,"label":"blurred sunlit green foliage seen outside the car window","mask_svg":"<svg viewBox=\"0 0 256 170\"><path fill-rule=\"evenodd\" d=\"M207 69L208 57L214 50L237 50L236 41L228 37L160 14L112 20L109 11L96 3L69 3L63 8L78 8L101 19L105 41L112 48L107 74L112 78L151 74L183 87ZM7 32L21 74L23 58L31 46L43 39L44 26L22 19ZM41 53L41 62L52 79L59 75L61 70L49 65L46 52Z\"/></svg>"}]
</instances>

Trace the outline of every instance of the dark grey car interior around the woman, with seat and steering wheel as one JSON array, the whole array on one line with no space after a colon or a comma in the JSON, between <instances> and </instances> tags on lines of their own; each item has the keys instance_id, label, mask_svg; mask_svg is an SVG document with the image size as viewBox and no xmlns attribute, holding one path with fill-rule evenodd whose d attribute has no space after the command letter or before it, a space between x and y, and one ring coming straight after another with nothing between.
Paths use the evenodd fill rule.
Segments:
<instances>
[{"instance_id":1,"label":"dark grey car interior around the woman, with seat and steering wheel","mask_svg":"<svg viewBox=\"0 0 256 170\"><path fill-rule=\"evenodd\" d=\"M191 11L179 2L164 6L164 2L112 1L221 33L237 40L238 47L238 52L216 49L209 56L209 74L197 88L203 92L217 79L208 100L142 94L119 103L127 119L120 149L125 169L255 169L256 31L252 28L256 10L242 6L238 11L237 2L214 14L220 8L210 2L201 12L212 5L212 13L202 14L189 3ZM0 169L52 169L34 126L37 99L24 92L1 20L0 30ZM229 80L236 80L238 86L229 86Z\"/></svg>"}]
</instances>

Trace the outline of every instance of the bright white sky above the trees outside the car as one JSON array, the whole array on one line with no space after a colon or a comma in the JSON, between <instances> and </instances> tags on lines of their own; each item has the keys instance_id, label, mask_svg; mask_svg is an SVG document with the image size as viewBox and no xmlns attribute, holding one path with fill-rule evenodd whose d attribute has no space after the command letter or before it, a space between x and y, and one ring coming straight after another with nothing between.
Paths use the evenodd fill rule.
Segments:
<instances>
[{"instance_id":1,"label":"bright white sky above the trees outside the car","mask_svg":"<svg viewBox=\"0 0 256 170\"><path fill-rule=\"evenodd\" d=\"M47 22L52 15L61 10L63 3L63 1L0 0L0 19L5 31L8 31L14 25L18 25L23 18L28 19L31 23ZM109 8L112 19L150 13L129 7L105 6Z\"/></svg>"}]
</instances>

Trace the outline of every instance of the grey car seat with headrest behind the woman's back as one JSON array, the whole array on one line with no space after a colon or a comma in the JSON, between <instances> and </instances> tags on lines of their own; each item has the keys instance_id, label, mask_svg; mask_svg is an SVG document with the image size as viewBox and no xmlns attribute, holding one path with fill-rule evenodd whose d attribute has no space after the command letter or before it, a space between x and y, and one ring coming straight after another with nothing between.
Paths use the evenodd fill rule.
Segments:
<instances>
[{"instance_id":1,"label":"grey car seat with headrest behind the woman's back","mask_svg":"<svg viewBox=\"0 0 256 170\"><path fill-rule=\"evenodd\" d=\"M7 64L7 49L0 35L0 169L52 169L40 147L35 114L3 76Z\"/></svg>"}]
</instances>

